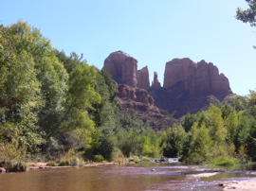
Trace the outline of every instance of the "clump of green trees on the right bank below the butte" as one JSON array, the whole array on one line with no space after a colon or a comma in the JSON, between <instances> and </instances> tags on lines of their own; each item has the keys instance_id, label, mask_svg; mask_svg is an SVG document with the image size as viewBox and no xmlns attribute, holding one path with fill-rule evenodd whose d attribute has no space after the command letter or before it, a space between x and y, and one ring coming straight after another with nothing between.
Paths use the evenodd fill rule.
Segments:
<instances>
[{"instance_id":1,"label":"clump of green trees on the right bank below the butte","mask_svg":"<svg viewBox=\"0 0 256 191\"><path fill-rule=\"evenodd\" d=\"M189 164L215 159L227 159L224 164L235 164L237 160L246 163L249 156L255 156L256 146L255 119L250 113L245 98L236 96L225 105L211 104L205 112L187 114L179 130L174 126L162 133L163 153Z\"/></svg>"}]
</instances>

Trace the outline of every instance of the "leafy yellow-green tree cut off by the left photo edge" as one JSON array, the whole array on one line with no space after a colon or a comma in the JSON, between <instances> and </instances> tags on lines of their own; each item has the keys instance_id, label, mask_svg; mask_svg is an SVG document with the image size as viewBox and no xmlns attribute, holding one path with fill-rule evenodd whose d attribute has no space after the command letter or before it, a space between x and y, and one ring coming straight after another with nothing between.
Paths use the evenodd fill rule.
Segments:
<instances>
[{"instance_id":1,"label":"leafy yellow-green tree cut off by the left photo edge","mask_svg":"<svg viewBox=\"0 0 256 191\"><path fill-rule=\"evenodd\" d=\"M1 26L0 43L0 135L29 151L42 144L37 114L43 106L35 61L26 49L19 49L19 33Z\"/></svg>"}]
</instances>

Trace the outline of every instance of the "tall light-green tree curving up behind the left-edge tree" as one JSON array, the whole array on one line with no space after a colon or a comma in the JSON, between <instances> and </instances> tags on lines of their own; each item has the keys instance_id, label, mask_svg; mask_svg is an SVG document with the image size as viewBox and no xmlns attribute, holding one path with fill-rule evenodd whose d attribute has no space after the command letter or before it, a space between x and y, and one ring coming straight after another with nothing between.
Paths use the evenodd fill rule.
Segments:
<instances>
[{"instance_id":1,"label":"tall light-green tree curving up behind the left-edge tree","mask_svg":"<svg viewBox=\"0 0 256 191\"><path fill-rule=\"evenodd\" d=\"M45 102L38 117L38 124L46 137L61 120L68 88L68 75L63 64L56 58L50 41L26 22L18 21L8 27L10 41L16 53L26 51L34 61L33 69L40 82L40 95Z\"/></svg>"}]
</instances>

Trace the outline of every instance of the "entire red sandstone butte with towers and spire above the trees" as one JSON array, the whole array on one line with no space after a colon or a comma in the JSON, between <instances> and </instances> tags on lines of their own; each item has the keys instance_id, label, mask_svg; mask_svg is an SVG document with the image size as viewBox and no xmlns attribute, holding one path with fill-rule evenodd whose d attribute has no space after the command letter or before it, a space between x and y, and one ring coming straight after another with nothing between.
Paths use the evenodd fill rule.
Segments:
<instances>
[{"instance_id":1,"label":"entire red sandstone butte with towers and spire above the trees","mask_svg":"<svg viewBox=\"0 0 256 191\"><path fill-rule=\"evenodd\" d=\"M146 90L152 96L150 99L153 99L149 101L150 104L173 113L175 117L197 113L212 102L223 101L232 96L229 79L224 74L219 74L218 68L211 62L195 63L188 58L168 61L163 86L158 81L156 72L150 86L148 67L137 70L137 60L122 51L111 53L105 59L102 69L109 72L118 84ZM123 87L120 90L123 97ZM128 98L131 96L127 95ZM147 96L143 92L143 97L137 96L136 100L139 102L145 97Z\"/></svg>"}]
</instances>

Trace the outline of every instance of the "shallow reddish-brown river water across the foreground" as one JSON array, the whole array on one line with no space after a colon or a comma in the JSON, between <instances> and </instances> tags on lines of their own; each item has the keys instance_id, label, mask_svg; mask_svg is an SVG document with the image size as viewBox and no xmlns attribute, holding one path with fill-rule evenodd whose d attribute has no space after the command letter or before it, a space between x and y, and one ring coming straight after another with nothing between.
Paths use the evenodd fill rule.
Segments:
<instances>
[{"instance_id":1,"label":"shallow reddish-brown river water across the foreground","mask_svg":"<svg viewBox=\"0 0 256 191\"><path fill-rule=\"evenodd\" d=\"M246 173L255 168L255 165L235 166L201 179L190 174L208 171L203 165L137 164L41 169L0 174L0 190L221 190L218 182L256 179ZM198 172L202 169L204 171Z\"/></svg>"}]
</instances>

